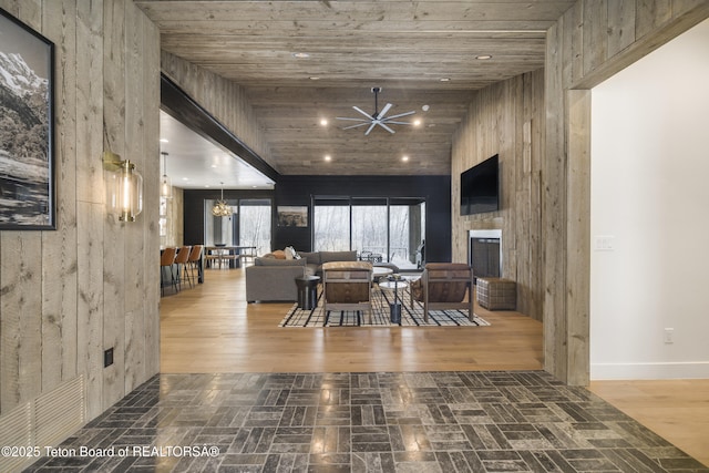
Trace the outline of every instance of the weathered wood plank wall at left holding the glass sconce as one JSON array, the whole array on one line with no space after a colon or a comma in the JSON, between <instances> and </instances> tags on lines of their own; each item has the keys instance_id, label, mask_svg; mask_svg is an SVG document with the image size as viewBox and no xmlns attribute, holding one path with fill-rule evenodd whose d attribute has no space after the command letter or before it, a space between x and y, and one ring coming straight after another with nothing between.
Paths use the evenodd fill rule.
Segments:
<instances>
[{"instance_id":1,"label":"weathered wood plank wall at left holding the glass sconce","mask_svg":"<svg viewBox=\"0 0 709 473\"><path fill-rule=\"evenodd\" d=\"M160 34L131 0L0 7L55 44L58 189L55 232L0 233L0 415L83 376L91 420L160 370L158 186L119 223L101 157L160 181Z\"/></svg>"}]
</instances>

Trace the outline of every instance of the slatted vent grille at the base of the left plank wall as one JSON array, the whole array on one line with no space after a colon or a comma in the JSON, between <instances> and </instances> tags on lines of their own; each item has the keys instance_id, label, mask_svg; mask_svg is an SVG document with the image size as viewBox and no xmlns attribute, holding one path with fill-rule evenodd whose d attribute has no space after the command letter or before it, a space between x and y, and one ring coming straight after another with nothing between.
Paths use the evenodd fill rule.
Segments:
<instances>
[{"instance_id":1,"label":"slatted vent grille at the base of the left plank wall","mask_svg":"<svg viewBox=\"0 0 709 473\"><path fill-rule=\"evenodd\" d=\"M39 446L44 454L45 446L55 446L83 426L85 404L80 376L0 417L0 445L17 448L17 453ZM19 471L35 460L31 455L1 455L0 471Z\"/></svg>"}]
</instances>

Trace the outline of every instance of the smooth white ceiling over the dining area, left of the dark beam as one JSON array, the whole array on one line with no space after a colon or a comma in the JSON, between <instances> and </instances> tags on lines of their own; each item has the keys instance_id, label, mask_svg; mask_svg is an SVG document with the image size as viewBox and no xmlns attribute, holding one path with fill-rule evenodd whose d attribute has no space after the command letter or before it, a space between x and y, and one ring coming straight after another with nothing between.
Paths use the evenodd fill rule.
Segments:
<instances>
[{"instance_id":1,"label":"smooth white ceiling over the dining area, left of the dark beam","mask_svg":"<svg viewBox=\"0 0 709 473\"><path fill-rule=\"evenodd\" d=\"M239 156L202 137L167 113L160 112L160 174L172 179L174 187L269 189L274 182L246 164Z\"/></svg>"}]
</instances>

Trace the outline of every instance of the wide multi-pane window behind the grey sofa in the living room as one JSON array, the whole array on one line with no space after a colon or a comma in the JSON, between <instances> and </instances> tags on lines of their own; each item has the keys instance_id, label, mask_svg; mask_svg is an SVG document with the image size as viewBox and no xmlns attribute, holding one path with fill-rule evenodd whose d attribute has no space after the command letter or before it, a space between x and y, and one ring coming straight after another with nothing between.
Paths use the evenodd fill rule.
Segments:
<instances>
[{"instance_id":1,"label":"wide multi-pane window behind the grey sofa in the living room","mask_svg":"<svg viewBox=\"0 0 709 473\"><path fill-rule=\"evenodd\" d=\"M420 267L423 198L314 197L314 249L357 250L360 259Z\"/></svg>"}]
</instances>

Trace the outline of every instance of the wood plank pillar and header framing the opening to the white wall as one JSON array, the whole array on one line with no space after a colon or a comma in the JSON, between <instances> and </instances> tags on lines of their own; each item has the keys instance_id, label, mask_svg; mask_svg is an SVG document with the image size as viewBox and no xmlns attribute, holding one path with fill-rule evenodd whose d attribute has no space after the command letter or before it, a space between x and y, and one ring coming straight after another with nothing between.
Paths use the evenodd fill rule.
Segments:
<instances>
[{"instance_id":1,"label":"wood plank pillar and header framing the opening to the white wall","mask_svg":"<svg viewBox=\"0 0 709 473\"><path fill-rule=\"evenodd\" d=\"M709 18L705 0L579 0L548 30L542 168L545 369L589 377L589 136L586 90Z\"/></svg>"}]
</instances>

